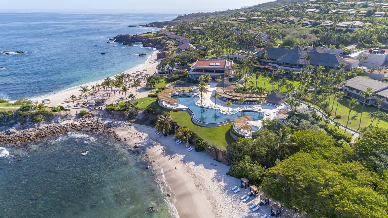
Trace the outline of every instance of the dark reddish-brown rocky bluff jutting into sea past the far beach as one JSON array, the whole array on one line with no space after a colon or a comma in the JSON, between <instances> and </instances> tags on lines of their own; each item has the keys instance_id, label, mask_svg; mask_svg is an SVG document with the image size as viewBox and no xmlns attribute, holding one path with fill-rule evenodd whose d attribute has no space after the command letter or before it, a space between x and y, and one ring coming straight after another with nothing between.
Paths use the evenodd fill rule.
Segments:
<instances>
[{"instance_id":1,"label":"dark reddish-brown rocky bluff jutting into sea past the far beach","mask_svg":"<svg viewBox=\"0 0 388 218\"><path fill-rule=\"evenodd\" d=\"M127 42L127 43L143 43L143 47L152 47L156 49L162 49L167 46L167 43L163 39L150 38L145 35L130 35L120 34L114 38L114 42Z\"/></svg>"}]
</instances>

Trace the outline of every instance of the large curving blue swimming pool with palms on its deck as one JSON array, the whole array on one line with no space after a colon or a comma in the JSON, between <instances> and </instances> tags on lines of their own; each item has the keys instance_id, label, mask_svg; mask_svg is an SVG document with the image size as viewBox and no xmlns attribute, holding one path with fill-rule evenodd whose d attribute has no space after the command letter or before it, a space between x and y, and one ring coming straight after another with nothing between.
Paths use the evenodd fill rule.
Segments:
<instances>
[{"instance_id":1,"label":"large curving blue swimming pool with palms on its deck","mask_svg":"<svg viewBox=\"0 0 388 218\"><path fill-rule=\"evenodd\" d=\"M263 119L262 112L255 111L241 111L235 114L223 114L220 109L206 108L196 105L199 100L198 96L190 95L175 95L172 98L178 99L181 105L187 106L194 113L194 117L204 123L215 124L227 120L234 120L237 117L251 116L253 120Z\"/></svg>"}]
</instances>

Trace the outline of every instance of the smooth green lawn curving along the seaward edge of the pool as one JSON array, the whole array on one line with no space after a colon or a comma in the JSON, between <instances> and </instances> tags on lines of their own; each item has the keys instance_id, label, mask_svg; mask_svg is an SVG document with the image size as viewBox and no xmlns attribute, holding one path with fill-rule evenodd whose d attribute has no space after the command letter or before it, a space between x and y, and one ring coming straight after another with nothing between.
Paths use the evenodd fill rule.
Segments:
<instances>
[{"instance_id":1,"label":"smooth green lawn curving along the seaward edge of the pool","mask_svg":"<svg viewBox=\"0 0 388 218\"><path fill-rule=\"evenodd\" d=\"M226 146L235 142L229 134L229 128L232 124L220 127L202 127L191 121L190 114L185 111L171 112L174 115L174 121L178 125L189 128L192 132L201 136L205 141L213 144L218 149L226 150Z\"/></svg>"}]
</instances>

